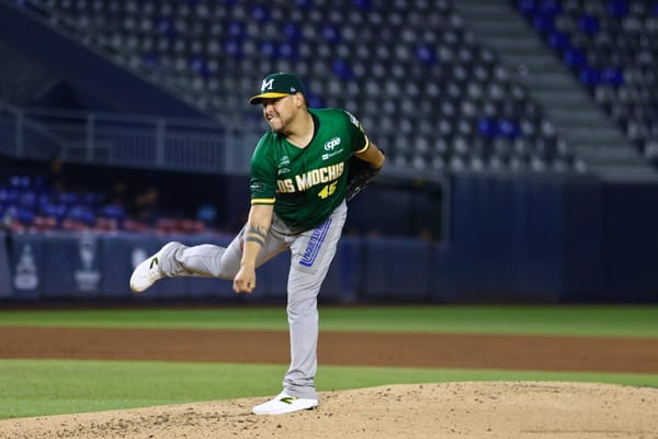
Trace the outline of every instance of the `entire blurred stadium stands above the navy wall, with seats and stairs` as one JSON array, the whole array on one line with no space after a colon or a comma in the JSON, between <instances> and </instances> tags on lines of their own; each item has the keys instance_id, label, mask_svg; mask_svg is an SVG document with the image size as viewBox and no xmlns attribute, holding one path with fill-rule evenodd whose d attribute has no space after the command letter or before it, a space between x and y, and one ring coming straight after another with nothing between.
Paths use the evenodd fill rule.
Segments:
<instances>
[{"instance_id":1,"label":"entire blurred stadium stands above the navy wall, with seats and stairs","mask_svg":"<svg viewBox=\"0 0 658 439\"><path fill-rule=\"evenodd\" d=\"M14 232L237 232L277 70L388 156L355 233L439 238L452 175L657 177L654 0L2 0L0 56Z\"/></svg>"}]
</instances>

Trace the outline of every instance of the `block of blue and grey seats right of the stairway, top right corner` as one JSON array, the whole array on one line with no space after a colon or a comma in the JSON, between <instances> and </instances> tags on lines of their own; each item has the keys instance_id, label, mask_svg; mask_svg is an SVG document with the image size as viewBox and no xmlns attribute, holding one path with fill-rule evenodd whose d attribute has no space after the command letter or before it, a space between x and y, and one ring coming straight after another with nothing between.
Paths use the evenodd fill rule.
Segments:
<instances>
[{"instance_id":1,"label":"block of blue and grey seats right of the stairway, top right corner","mask_svg":"<svg viewBox=\"0 0 658 439\"><path fill-rule=\"evenodd\" d=\"M537 1L517 10L530 22L541 15ZM658 108L655 71L656 2L565 0L549 15L554 32L544 35L594 101L626 137L653 157L657 134L648 127ZM577 161L577 160L576 160Z\"/></svg>"}]
</instances>

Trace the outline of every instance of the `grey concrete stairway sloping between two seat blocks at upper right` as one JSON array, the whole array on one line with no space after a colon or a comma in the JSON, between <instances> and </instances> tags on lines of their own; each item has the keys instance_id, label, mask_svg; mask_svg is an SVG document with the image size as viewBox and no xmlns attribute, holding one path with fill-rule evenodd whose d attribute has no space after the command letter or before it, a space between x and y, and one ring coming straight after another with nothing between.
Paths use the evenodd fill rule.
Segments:
<instances>
[{"instance_id":1,"label":"grey concrete stairway sloping between two seat blocks at upper right","mask_svg":"<svg viewBox=\"0 0 658 439\"><path fill-rule=\"evenodd\" d=\"M457 11L557 125L588 166L606 180L658 181L658 172L624 137L541 35L509 0L460 0Z\"/></svg>"}]
</instances>

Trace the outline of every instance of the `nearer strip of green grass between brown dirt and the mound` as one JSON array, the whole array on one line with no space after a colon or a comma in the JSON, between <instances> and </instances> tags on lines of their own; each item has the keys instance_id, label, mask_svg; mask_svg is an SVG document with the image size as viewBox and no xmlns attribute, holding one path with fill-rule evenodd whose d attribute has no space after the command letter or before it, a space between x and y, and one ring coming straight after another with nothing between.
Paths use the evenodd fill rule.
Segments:
<instances>
[{"instance_id":1,"label":"nearer strip of green grass between brown dirt and the mound","mask_svg":"<svg viewBox=\"0 0 658 439\"><path fill-rule=\"evenodd\" d=\"M0 419L271 396L286 365L0 360ZM320 367L319 391L455 381L578 381L658 386L658 375Z\"/></svg>"}]
</instances>

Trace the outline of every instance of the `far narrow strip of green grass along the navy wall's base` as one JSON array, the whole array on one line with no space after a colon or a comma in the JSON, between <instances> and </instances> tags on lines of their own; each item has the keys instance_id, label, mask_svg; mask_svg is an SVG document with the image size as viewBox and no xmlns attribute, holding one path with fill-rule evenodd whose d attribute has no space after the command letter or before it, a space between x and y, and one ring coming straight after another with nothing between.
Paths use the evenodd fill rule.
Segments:
<instances>
[{"instance_id":1,"label":"far narrow strip of green grass along the navy wall's base","mask_svg":"<svg viewBox=\"0 0 658 439\"><path fill-rule=\"evenodd\" d=\"M4 311L0 326L286 330L284 306ZM320 307L321 330L658 337L658 306Z\"/></svg>"}]
</instances>

